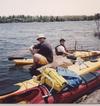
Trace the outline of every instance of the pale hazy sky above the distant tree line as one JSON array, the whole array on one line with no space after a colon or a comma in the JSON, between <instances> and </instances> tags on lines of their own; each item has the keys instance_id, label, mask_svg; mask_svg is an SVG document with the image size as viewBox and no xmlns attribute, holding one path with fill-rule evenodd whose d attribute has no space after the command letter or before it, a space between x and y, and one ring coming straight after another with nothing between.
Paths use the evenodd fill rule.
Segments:
<instances>
[{"instance_id":1,"label":"pale hazy sky above the distant tree line","mask_svg":"<svg viewBox=\"0 0 100 106\"><path fill-rule=\"evenodd\" d=\"M0 16L64 16L95 13L100 13L100 0L0 0Z\"/></svg>"}]
</instances>

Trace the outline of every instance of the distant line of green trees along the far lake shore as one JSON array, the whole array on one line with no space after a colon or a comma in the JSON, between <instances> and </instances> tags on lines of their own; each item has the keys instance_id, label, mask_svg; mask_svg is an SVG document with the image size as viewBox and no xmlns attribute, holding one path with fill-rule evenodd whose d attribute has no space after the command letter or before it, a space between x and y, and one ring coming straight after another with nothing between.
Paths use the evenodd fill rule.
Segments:
<instances>
[{"instance_id":1,"label":"distant line of green trees along the far lake shore","mask_svg":"<svg viewBox=\"0 0 100 106\"><path fill-rule=\"evenodd\" d=\"M91 21L95 16L25 16L12 15L0 16L0 23L17 23L17 22L59 22L59 21Z\"/></svg>"}]
</instances>

